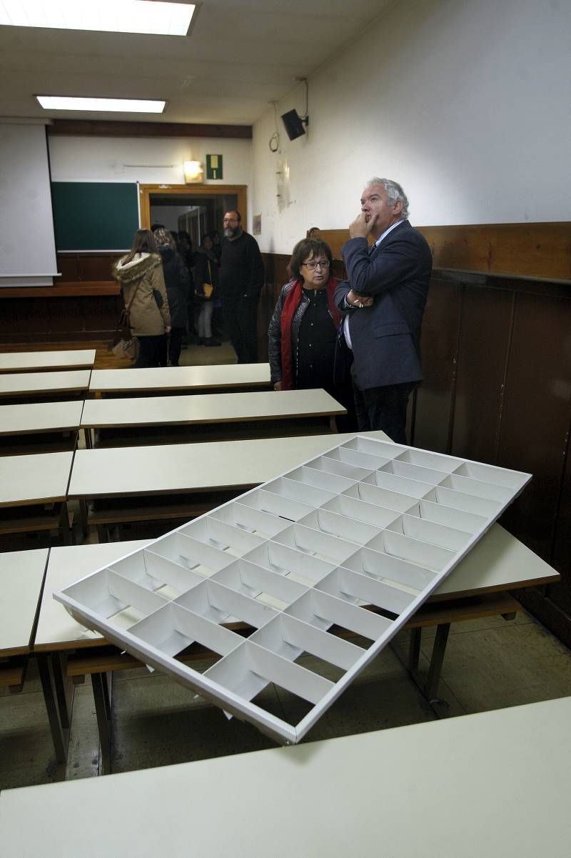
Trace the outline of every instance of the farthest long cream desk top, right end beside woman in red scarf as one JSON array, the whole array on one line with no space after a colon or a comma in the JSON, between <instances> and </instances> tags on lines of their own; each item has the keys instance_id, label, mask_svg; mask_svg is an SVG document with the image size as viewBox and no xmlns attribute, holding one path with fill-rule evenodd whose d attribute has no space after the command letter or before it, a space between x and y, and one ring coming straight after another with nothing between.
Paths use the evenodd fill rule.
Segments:
<instances>
[{"instance_id":1,"label":"farthest long cream desk top, right end beside woman in red scarf","mask_svg":"<svg viewBox=\"0 0 571 858\"><path fill-rule=\"evenodd\" d=\"M266 387L269 364L217 364L215 366L160 366L150 369L93 370L89 390L183 390L209 387Z\"/></svg>"}]
</instances>

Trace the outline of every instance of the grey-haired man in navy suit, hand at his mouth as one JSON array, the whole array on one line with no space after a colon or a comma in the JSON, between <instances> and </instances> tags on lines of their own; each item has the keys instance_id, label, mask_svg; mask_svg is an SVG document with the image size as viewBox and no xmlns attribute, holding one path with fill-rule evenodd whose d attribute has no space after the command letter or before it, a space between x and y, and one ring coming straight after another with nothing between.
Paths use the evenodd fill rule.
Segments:
<instances>
[{"instance_id":1,"label":"grey-haired man in navy suit, hand at his mouth","mask_svg":"<svg viewBox=\"0 0 571 858\"><path fill-rule=\"evenodd\" d=\"M353 353L359 431L382 429L398 444L406 444L406 406L423 378L420 326L432 269L430 247L407 216L400 184L388 178L367 183L361 213L341 248L348 281L335 291L345 313L340 329Z\"/></svg>"}]
</instances>

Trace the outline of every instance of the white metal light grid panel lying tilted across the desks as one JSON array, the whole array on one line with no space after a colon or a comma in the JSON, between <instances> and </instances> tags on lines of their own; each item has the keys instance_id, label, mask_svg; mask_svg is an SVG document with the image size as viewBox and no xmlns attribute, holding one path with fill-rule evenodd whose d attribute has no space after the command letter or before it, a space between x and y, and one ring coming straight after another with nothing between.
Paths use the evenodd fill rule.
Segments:
<instances>
[{"instance_id":1,"label":"white metal light grid panel lying tilted across the desks","mask_svg":"<svg viewBox=\"0 0 571 858\"><path fill-rule=\"evenodd\" d=\"M54 597L142 662L296 743L530 479L356 435ZM219 656L204 673L177 657L195 642ZM340 678L303 667L303 654ZM298 722L264 709L269 683L306 702Z\"/></svg>"}]
</instances>

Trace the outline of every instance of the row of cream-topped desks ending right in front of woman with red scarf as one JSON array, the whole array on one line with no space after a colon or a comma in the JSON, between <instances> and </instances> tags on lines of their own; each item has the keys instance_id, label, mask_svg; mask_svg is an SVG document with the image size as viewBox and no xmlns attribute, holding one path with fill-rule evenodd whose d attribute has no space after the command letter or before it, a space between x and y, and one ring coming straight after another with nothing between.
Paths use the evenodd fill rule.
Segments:
<instances>
[{"instance_id":1,"label":"row of cream-topped desks ending right in front of woman with red scarf","mask_svg":"<svg viewBox=\"0 0 571 858\"><path fill-rule=\"evenodd\" d=\"M0 405L0 453L335 432L346 409L325 390L194 394Z\"/></svg>"}]
</instances>

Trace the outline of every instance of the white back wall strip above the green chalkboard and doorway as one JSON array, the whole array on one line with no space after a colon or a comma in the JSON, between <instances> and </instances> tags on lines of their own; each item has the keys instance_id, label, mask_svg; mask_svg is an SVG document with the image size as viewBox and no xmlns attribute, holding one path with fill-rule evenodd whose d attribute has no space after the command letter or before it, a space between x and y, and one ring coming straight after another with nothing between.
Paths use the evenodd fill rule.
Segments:
<instances>
[{"instance_id":1,"label":"white back wall strip above the green chalkboard and doorway","mask_svg":"<svg viewBox=\"0 0 571 858\"><path fill-rule=\"evenodd\" d=\"M251 184L252 142L197 137L49 138L54 182L184 184L183 161L223 156L224 178L204 184Z\"/></svg>"}]
</instances>

